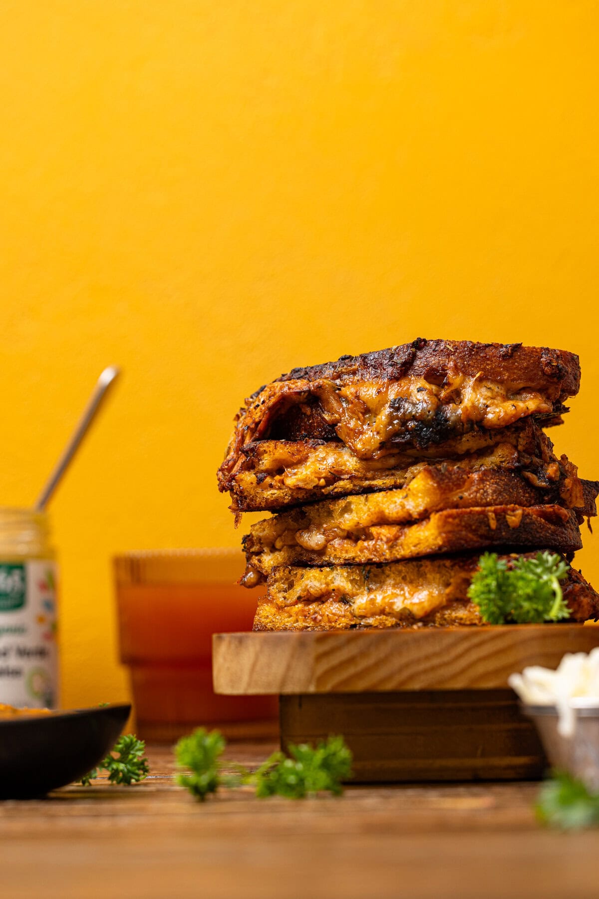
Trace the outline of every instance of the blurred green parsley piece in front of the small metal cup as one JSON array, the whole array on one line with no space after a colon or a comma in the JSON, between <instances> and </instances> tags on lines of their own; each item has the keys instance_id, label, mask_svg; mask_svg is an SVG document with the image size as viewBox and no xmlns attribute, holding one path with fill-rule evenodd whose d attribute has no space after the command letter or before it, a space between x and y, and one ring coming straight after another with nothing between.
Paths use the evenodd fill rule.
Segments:
<instances>
[{"instance_id":1,"label":"blurred green parsley piece in front of the small metal cup","mask_svg":"<svg viewBox=\"0 0 599 899\"><path fill-rule=\"evenodd\" d=\"M542 785L535 806L537 818L551 827L580 830L599 826L599 794L565 771L554 771Z\"/></svg>"}]
</instances>

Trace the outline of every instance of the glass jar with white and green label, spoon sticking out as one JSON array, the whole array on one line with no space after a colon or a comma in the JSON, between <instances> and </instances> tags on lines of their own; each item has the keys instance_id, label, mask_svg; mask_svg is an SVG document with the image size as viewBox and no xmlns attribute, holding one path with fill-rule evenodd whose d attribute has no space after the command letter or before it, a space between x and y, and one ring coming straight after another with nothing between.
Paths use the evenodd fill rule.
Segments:
<instances>
[{"instance_id":1,"label":"glass jar with white and green label, spoon sticking out","mask_svg":"<svg viewBox=\"0 0 599 899\"><path fill-rule=\"evenodd\" d=\"M56 707L56 631L48 515L0 508L0 702Z\"/></svg>"}]
</instances>

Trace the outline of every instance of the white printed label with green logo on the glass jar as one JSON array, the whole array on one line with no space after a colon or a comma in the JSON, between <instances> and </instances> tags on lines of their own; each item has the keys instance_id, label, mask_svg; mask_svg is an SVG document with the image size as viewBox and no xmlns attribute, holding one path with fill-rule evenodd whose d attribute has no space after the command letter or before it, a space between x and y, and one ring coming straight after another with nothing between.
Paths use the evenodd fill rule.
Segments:
<instances>
[{"instance_id":1,"label":"white printed label with green logo on the glass jar","mask_svg":"<svg viewBox=\"0 0 599 899\"><path fill-rule=\"evenodd\" d=\"M0 702L57 702L56 565L0 563Z\"/></svg>"}]
</instances>

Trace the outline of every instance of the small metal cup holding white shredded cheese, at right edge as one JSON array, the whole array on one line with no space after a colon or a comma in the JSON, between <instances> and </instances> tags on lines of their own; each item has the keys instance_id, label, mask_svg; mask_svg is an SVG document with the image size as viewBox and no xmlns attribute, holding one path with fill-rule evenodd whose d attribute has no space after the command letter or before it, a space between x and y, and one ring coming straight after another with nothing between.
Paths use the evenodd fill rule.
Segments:
<instances>
[{"instance_id":1,"label":"small metal cup holding white shredded cheese, at right edge","mask_svg":"<svg viewBox=\"0 0 599 899\"><path fill-rule=\"evenodd\" d=\"M531 717L539 731L542 744L553 768L568 771L580 778L586 787L599 791L599 701L571 699L576 709L576 729L571 737L558 732L558 712L555 706L527 706L524 714Z\"/></svg>"}]
</instances>

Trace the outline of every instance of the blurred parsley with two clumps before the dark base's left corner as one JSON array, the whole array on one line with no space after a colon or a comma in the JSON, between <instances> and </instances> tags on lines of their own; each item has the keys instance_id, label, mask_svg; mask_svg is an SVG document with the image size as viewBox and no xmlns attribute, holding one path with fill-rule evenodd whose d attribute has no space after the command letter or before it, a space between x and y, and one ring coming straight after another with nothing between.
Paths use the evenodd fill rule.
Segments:
<instances>
[{"instance_id":1,"label":"blurred parsley with two clumps before the dark base's left corner","mask_svg":"<svg viewBox=\"0 0 599 899\"><path fill-rule=\"evenodd\" d=\"M315 748L289 744L285 752L273 752L255 771L233 763L234 774L225 774L221 759L225 738L218 731L198 727L175 746L177 766L185 772L177 783L204 801L219 787L249 785L260 798L282 796L302 799L320 792L339 796L341 781L351 777L352 754L343 737L330 736Z\"/></svg>"}]
</instances>

